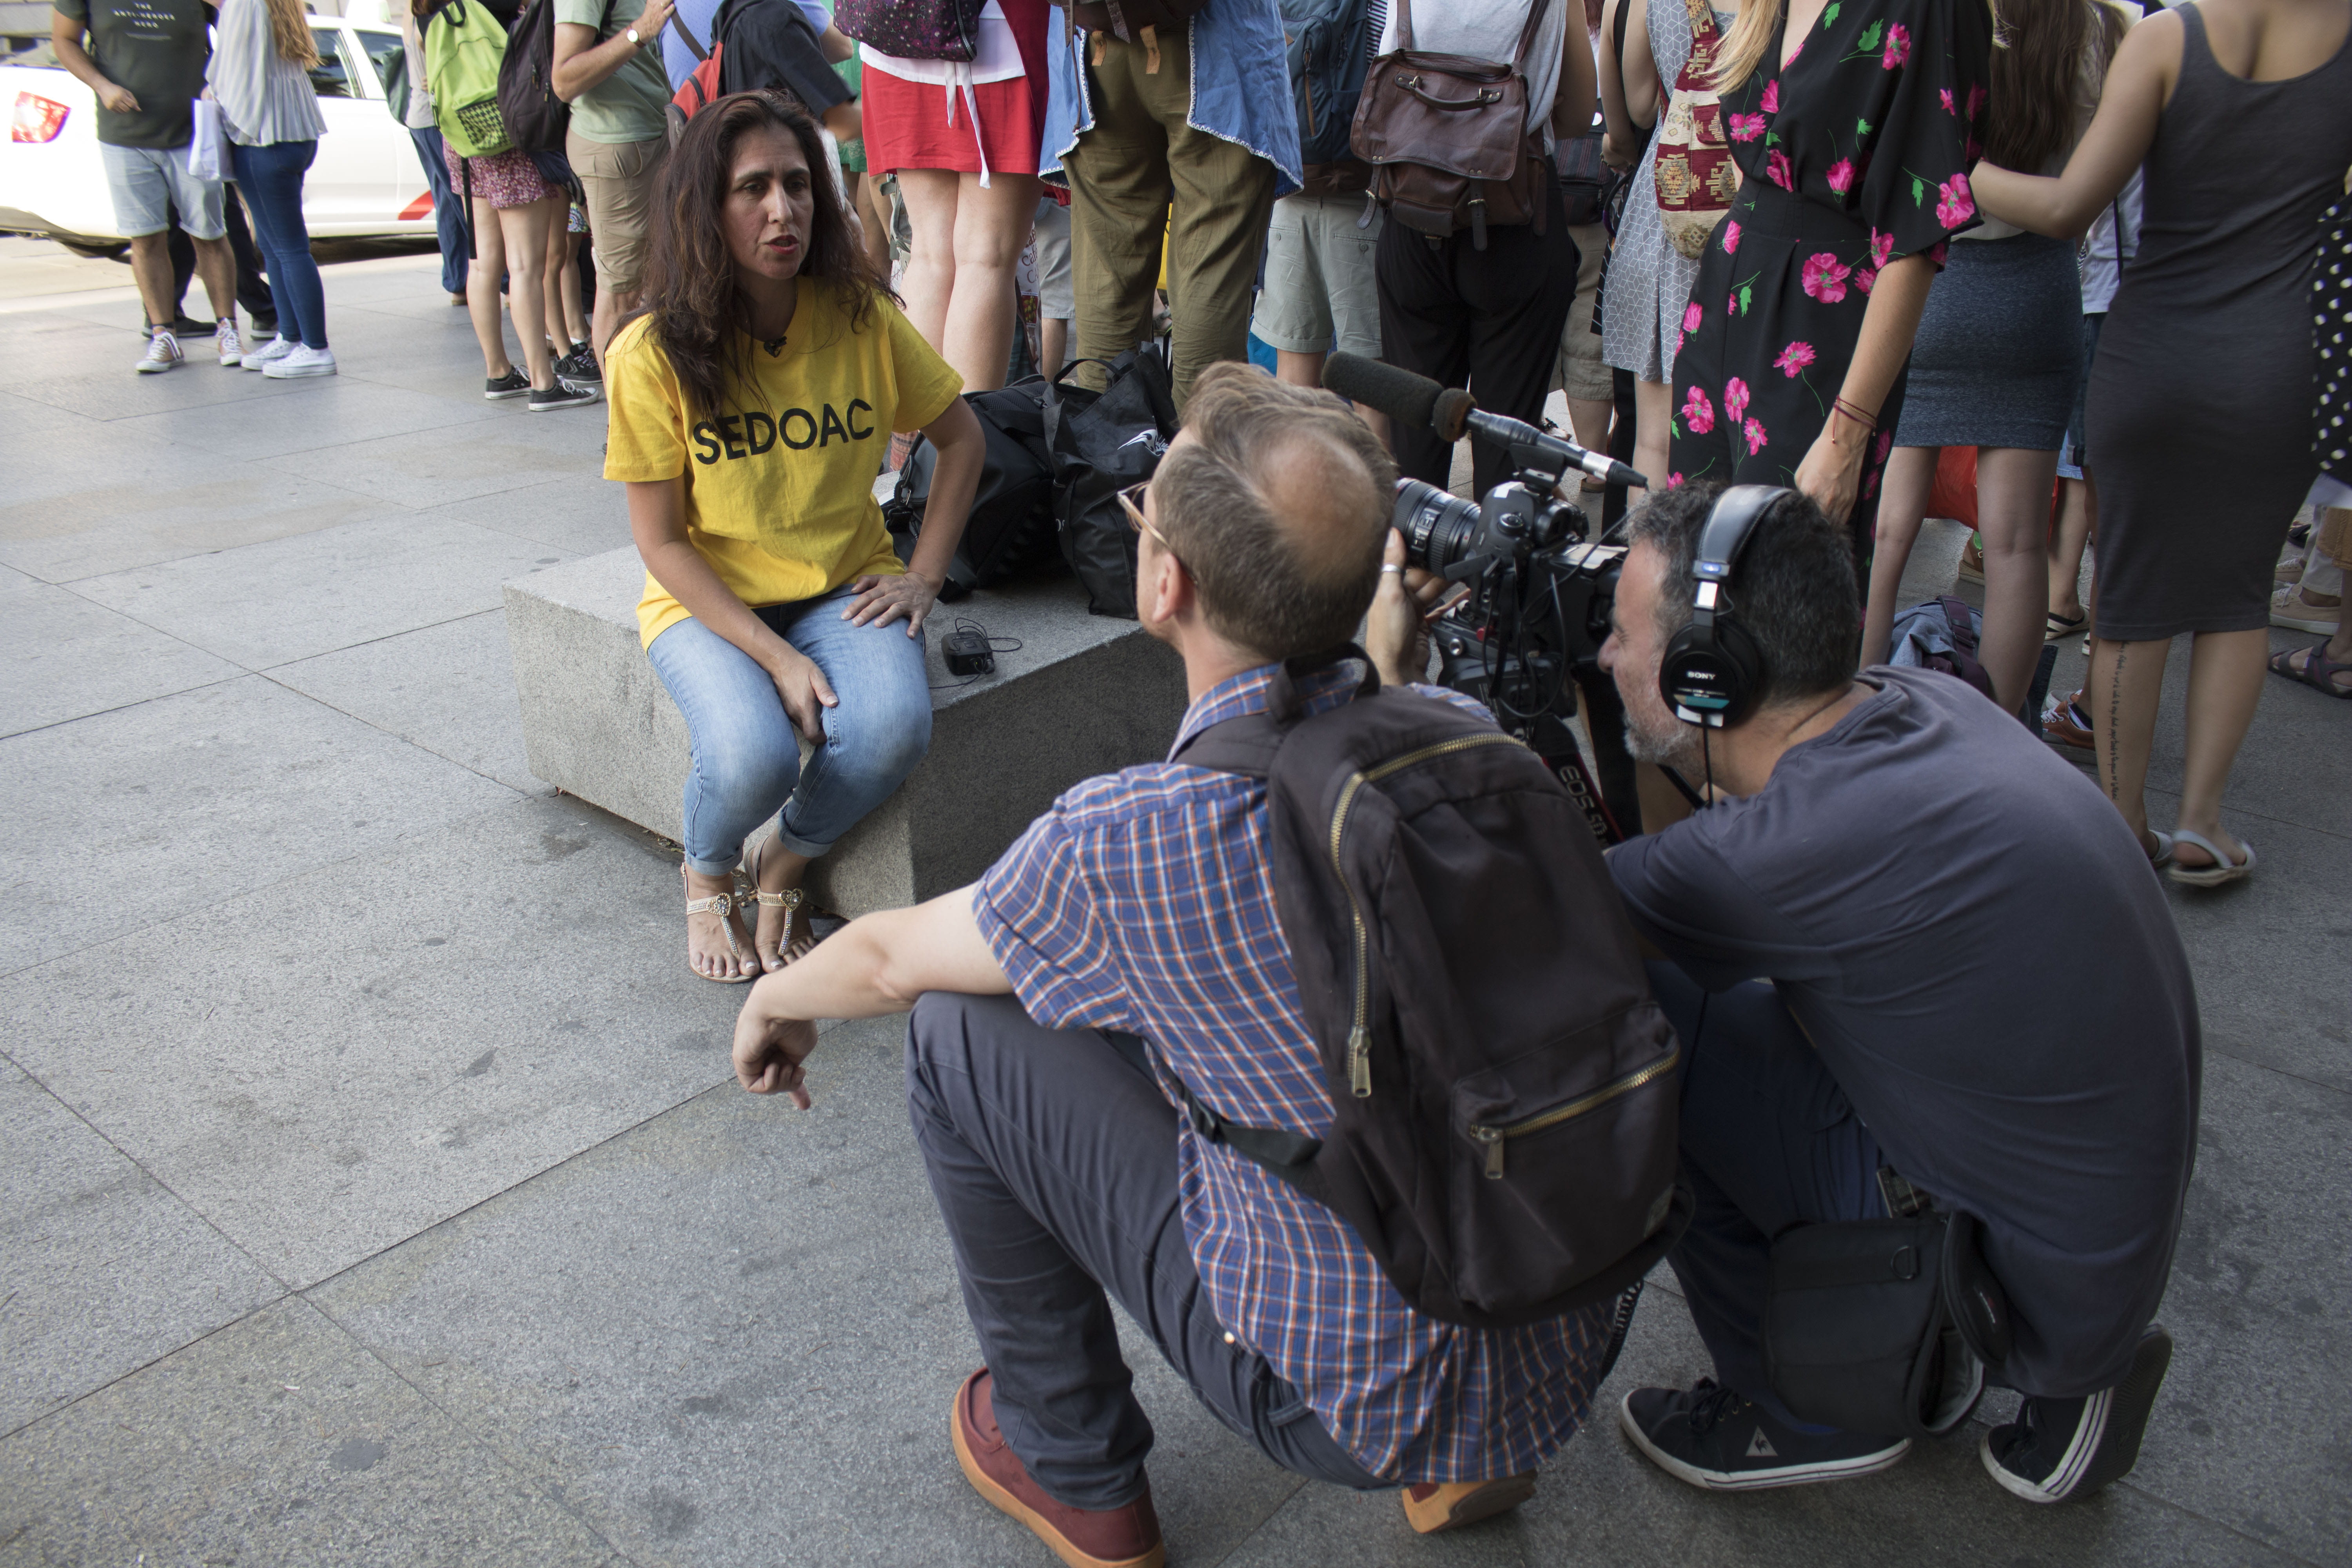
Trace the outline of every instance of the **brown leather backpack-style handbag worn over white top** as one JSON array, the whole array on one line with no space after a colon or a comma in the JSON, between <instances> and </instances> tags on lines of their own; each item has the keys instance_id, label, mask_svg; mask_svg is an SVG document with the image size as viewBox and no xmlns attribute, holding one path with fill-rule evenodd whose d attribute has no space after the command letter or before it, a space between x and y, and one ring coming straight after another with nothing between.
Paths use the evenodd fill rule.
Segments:
<instances>
[{"instance_id":1,"label":"brown leather backpack-style handbag worn over white top","mask_svg":"<svg viewBox=\"0 0 2352 1568\"><path fill-rule=\"evenodd\" d=\"M1477 249L1486 249L1486 230L1496 226L1545 230L1550 165L1541 127L1526 122L1519 66L1548 5L1534 0L1505 66L1423 54L1414 47L1414 5L1397 0L1399 47L1371 63L1350 136L1390 219L1432 237L1468 228Z\"/></svg>"}]
</instances>

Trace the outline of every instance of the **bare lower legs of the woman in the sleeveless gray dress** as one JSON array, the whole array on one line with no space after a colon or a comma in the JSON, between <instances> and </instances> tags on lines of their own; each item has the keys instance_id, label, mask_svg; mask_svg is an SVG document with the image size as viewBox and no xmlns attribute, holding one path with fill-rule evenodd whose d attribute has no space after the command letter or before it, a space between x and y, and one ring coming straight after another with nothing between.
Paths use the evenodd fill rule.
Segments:
<instances>
[{"instance_id":1,"label":"bare lower legs of the woman in the sleeveless gray dress","mask_svg":"<svg viewBox=\"0 0 2352 1568\"><path fill-rule=\"evenodd\" d=\"M2091 644L2091 684L2082 705L2091 712L2098 736L2098 783L2140 835L2143 849L2154 849L2147 832L2147 755L2157 733L2157 701L2164 693L2164 642ZM2180 825L2244 858L2244 844L2220 827L2220 795L2230 783L2230 764L2253 724L2253 705L2263 698L2263 665L2270 658L2270 632L2199 632L2190 644L2187 762L2180 783ZM2194 844L2173 851L2190 867L2213 865Z\"/></svg>"}]
</instances>

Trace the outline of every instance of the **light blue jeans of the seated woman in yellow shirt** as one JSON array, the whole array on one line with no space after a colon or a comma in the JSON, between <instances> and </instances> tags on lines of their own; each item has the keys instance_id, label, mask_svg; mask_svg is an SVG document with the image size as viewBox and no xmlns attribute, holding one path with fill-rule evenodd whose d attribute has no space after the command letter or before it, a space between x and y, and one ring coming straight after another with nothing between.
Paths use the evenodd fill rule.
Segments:
<instances>
[{"instance_id":1,"label":"light blue jeans of the seated woman in yellow shirt","mask_svg":"<svg viewBox=\"0 0 2352 1568\"><path fill-rule=\"evenodd\" d=\"M922 637L906 621L842 621L849 590L753 614L816 661L840 698L826 708L826 743L800 766L800 741L776 682L750 654L701 621L680 621L644 656L670 689L694 736L687 771L687 865L724 877L769 816L795 856L833 849L861 816L889 799L931 750L931 677Z\"/></svg>"}]
</instances>

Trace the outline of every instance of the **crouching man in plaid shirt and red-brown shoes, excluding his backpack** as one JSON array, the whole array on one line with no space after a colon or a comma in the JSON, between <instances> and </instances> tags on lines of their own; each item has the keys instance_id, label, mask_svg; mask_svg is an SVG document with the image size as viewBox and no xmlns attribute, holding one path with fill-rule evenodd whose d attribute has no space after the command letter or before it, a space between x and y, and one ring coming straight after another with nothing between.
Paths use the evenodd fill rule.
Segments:
<instances>
[{"instance_id":1,"label":"crouching man in plaid shirt and red-brown shoes, excluding his backpack","mask_svg":"<svg viewBox=\"0 0 2352 1568\"><path fill-rule=\"evenodd\" d=\"M1265 708L1279 661L1348 642L1367 607L1414 614L1392 487L1329 393L1202 376L1129 498L1136 611L1192 696L1176 750ZM1357 684L1343 663L1301 691L1322 712ZM1105 1295L1268 1458L1402 1486L1418 1530L1526 1500L1602 1371L1606 1307L1512 1331L1423 1316L1345 1220L1176 1110L1164 1074L1232 1121L1329 1131L1265 844L1263 780L1181 762L1089 778L974 886L764 976L736 1025L743 1086L807 1105L811 1020L913 1006L915 1140L988 1361L950 1436L971 1486L1065 1563L1162 1561L1152 1427Z\"/></svg>"}]
</instances>

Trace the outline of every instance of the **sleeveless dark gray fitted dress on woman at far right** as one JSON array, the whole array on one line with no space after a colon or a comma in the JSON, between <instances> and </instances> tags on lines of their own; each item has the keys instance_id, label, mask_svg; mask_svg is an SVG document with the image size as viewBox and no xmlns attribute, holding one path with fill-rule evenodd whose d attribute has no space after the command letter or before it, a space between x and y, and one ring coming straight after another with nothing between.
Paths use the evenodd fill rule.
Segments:
<instances>
[{"instance_id":1,"label":"sleeveless dark gray fitted dress on woman at far right","mask_svg":"<svg viewBox=\"0 0 2352 1568\"><path fill-rule=\"evenodd\" d=\"M2352 38L2284 82L2230 75L2194 2L2145 165L2140 254L2091 367L2098 635L2270 625L2312 454L2319 219L2352 165Z\"/></svg>"}]
</instances>

